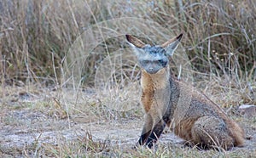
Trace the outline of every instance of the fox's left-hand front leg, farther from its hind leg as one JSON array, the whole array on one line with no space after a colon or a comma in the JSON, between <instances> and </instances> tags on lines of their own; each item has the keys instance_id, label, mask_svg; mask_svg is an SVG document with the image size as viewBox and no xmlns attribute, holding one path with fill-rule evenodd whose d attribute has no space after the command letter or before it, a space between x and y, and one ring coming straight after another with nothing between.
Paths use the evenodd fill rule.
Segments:
<instances>
[{"instance_id":1,"label":"fox's left-hand front leg, farther from its hind leg","mask_svg":"<svg viewBox=\"0 0 256 158\"><path fill-rule=\"evenodd\" d=\"M143 126L143 131L141 133L141 136L137 142L137 145L143 145L145 144L146 140L148 139L149 134L152 132L153 128L153 119L150 115L147 114L145 118L145 123Z\"/></svg>"}]
</instances>

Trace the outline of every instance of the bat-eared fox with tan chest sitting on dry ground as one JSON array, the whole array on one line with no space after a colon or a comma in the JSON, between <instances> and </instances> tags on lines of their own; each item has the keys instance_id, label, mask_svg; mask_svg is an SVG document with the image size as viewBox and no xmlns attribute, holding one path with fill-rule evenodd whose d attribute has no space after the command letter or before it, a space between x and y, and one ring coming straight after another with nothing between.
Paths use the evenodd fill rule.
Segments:
<instances>
[{"instance_id":1,"label":"bat-eared fox with tan chest sitting on dry ground","mask_svg":"<svg viewBox=\"0 0 256 158\"><path fill-rule=\"evenodd\" d=\"M141 69L141 104L145 111L143 130L135 145L149 149L169 127L189 144L230 150L243 146L244 130L224 110L195 87L172 75L169 63L183 33L161 45L149 45L125 35Z\"/></svg>"}]
</instances>

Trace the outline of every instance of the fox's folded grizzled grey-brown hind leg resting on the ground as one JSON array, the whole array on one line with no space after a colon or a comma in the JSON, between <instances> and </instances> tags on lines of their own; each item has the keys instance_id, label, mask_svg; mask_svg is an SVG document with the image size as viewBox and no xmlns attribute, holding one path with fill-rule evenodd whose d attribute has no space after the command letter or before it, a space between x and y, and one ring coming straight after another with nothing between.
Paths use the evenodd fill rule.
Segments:
<instances>
[{"instance_id":1,"label":"fox's folded grizzled grey-brown hind leg resting on the ground","mask_svg":"<svg viewBox=\"0 0 256 158\"><path fill-rule=\"evenodd\" d=\"M221 147L228 150L234 145L225 122L214 116L203 116L195 121L191 129L194 144L201 144L207 148Z\"/></svg>"}]
</instances>

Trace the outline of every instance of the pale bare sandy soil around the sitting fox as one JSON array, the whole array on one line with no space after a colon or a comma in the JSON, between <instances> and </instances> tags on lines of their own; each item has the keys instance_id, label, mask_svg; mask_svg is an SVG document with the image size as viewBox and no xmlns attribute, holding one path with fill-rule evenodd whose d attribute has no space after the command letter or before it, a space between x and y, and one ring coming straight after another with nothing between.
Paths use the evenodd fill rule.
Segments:
<instances>
[{"instance_id":1,"label":"pale bare sandy soil around the sitting fox","mask_svg":"<svg viewBox=\"0 0 256 158\"><path fill-rule=\"evenodd\" d=\"M17 156L22 155L24 150L33 145L39 148L41 144L58 145L76 141L83 138L86 132L90 132L96 141L108 141L119 147L123 145L132 147L141 133L143 118L131 116L108 120L102 116L90 116L83 112L61 118L61 110L52 110L49 105L40 108L39 103L48 99L40 99L27 93L25 96L15 95L15 99L1 99L0 155L2 153L2 155ZM244 147L233 150L255 152L255 117L239 116L236 120L246 129L247 141ZM160 138L160 144L182 144L181 138L166 131Z\"/></svg>"}]
</instances>

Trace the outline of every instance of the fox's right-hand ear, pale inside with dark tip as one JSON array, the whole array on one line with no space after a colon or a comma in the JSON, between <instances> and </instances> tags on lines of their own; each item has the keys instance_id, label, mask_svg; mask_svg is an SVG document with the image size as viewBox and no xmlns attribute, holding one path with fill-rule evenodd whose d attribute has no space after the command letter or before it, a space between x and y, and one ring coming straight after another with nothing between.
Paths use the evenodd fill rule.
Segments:
<instances>
[{"instance_id":1,"label":"fox's right-hand ear, pale inside with dark tip","mask_svg":"<svg viewBox=\"0 0 256 158\"><path fill-rule=\"evenodd\" d=\"M162 48L166 49L166 54L172 56L182 37L183 34L180 34L161 45Z\"/></svg>"}]
</instances>

